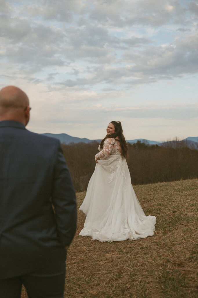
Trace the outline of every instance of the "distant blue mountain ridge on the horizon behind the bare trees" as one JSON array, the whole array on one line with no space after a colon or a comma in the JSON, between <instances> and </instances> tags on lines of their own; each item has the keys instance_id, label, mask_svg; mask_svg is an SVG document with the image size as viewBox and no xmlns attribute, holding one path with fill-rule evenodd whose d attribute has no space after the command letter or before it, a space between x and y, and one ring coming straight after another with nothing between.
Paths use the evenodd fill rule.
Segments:
<instances>
[{"instance_id":1,"label":"distant blue mountain ridge on the horizon behind the bare trees","mask_svg":"<svg viewBox=\"0 0 198 298\"><path fill-rule=\"evenodd\" d=\"M96 141L96 142L100 142L101 139L95 139L95 140L90 140L90 139L87 139L87 138L77 138L75 136L69 136L68 134L50 134L50 133L45 133L45 134L42 134L42 135L45 135L45 136L50 136L50 137L53 137L53 138L56 138L56 139L59 139L61 143L63 144L70 144L70 143L74 143L74 144L77 144L77 143L90 143L90 142L93 142L93 141ZM164 145L165 143L167 142L156 142L156 141L150 141L150 140L147 140L147 139L134 139L134 140L126 140L126 142L129 142L131 144L134 144L136 143L137 141L141 141L142 143L145 143L145 144L149 144L149 145ZM188 142L188 145L197 145L198 143L198 137L188 137L186 139L184 139L183 141L187 141ZM174 142L174 141L168 141L168 142Z\"/></svg>"}]
</instances>

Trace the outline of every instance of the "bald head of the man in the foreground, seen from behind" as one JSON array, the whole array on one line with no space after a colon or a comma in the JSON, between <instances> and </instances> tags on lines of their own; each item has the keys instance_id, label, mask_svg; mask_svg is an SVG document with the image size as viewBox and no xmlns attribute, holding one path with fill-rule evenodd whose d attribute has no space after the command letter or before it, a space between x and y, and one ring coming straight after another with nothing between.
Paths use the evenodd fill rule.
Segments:
<instances>
[{"instance_id":1,"label":"bald head of the man in the foreground, seen from behind","mask_svg":"<svg viewBox=\"0 0 198 298\"><path fill-rule=\"evenodd\" d=\"M0 121L12 120L27 125L29 121L29 100L25 92L15 86L0 90Z\"/></svg>"}]
</instances>

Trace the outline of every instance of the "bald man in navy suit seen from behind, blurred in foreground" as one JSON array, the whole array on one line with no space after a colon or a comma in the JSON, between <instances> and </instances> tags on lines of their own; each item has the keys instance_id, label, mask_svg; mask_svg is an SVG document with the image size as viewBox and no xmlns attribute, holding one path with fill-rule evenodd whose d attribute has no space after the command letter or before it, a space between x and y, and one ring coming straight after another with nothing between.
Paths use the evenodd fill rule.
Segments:
<instances>
[{"instance_id":1,"label":"bald man in navy suit seen from behind, blurred in foreground","mask_svg":"<svg viewBox=\"0 0 198 298\"><path fill-rule=\"evenodd\" d=\"M0 91L0 297L63 298L76 199L60 142L26 130L27 95Z\"/></svg>"}]
</instances>

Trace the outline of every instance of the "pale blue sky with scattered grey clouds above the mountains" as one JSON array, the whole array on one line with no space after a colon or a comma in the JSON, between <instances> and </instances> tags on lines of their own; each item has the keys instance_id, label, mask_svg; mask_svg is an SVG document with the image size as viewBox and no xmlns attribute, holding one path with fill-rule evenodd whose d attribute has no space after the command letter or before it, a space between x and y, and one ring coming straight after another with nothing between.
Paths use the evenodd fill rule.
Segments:
<instances>
[{"instance_id":1,"label":"pale blue sky with scattered grey clouds above the mountains","mask_svg":"<svg viewBox=\"0 0 198 298\"><path fill-rule=\"evenodd\" d=\"M0 89L27 128L102 139L198 136L197 0L0 0Z\"/></svg>"}]
</instances>

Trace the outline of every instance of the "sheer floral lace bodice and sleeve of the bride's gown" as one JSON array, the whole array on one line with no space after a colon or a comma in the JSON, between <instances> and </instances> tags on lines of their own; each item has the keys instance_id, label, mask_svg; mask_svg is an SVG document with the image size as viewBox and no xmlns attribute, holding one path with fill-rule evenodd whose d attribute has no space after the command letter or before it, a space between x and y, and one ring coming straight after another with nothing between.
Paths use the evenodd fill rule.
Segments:
<instances>
[{"instance_id":1,"label":"sheer floral lace bodice and sleeve of the bride's gown","mask_svg":"<svg viewBox=\"0 0 198 298\"><path fill-rule=\"evenodd\" d=\"M98 147L98 150L100 150L100 146ZM121 155L119 142L114 138L107 138L104 141L103 149L95 155L95 161L109 155Z\"/></svg>"}]
</instances>

